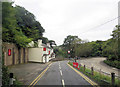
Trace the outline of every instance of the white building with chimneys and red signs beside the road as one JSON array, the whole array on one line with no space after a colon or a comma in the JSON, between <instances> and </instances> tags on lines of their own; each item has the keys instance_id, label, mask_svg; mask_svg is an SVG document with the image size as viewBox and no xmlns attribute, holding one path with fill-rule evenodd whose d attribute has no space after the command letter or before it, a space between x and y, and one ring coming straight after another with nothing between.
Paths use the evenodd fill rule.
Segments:
<instances>
[{"instance_id":1,"label":"white building with chimneys and red signs beside the road","mask_svg":"<svg viewBox=\"0 0 120 87\"><path fill-rule=\"evenodd\" d=\"M28 61L30 62L49 62L55 58L55 53L50 47L50 44L43 44L42 40L38 40L38 47L31 47L28 49Z\"/></svg>"}]
</instances>

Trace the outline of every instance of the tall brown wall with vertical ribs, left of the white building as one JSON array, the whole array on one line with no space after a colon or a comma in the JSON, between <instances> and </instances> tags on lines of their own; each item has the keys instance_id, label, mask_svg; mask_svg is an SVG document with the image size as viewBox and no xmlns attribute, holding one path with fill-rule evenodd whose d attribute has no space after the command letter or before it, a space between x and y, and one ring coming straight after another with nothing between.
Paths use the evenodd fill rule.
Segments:
<instances>
[{"instance_id":1,"label":"tall brown wall with vertical ribs, left of the white building","mask_svg":"<svg viewBox=\"0 0 120 87\"><path fill-rule=\"evenodd\" d=\"M18 48L13 43L2 43L4 53L4 65L15 65L28 62L28 48ZM8 50L11 50L11 55L8 55Z\"/></svg>"}]
</instances>

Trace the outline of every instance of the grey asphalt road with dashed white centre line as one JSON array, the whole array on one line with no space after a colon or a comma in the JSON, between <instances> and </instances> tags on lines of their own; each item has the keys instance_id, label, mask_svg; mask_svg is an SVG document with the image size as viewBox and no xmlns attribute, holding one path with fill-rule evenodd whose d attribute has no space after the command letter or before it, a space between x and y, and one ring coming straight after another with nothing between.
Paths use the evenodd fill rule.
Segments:
<instances>
[{"instance_id":1,"label":"grey asphalt road with dashed white centre line","mask_svg":"<svg viewBox=\"0 0 120 87\"><path fill-rule=\"evenodd\" d=\"M90 87L91 85L89 80L87 81L83 76L67 65L67 61L53 62L44 71L45 72L41 73L30 85L60 85L62 87L68 85L86 85Z\"/></svg>"}]
</instances>

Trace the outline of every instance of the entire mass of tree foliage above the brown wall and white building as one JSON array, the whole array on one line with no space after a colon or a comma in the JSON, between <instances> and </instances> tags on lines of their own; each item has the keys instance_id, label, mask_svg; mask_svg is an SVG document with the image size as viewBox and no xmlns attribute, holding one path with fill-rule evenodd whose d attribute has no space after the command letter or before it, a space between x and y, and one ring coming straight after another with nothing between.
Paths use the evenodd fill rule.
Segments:
<instances>
[{"instance_id":1,"label":"entire mass of tree foliage above the brown wall and white building","mask_svg":"<svg viewBox=\"0 0 120 87\"><path fill-rule=\"evenodd\" d=\"M19 47L26 47L32 40L42 39L47 43L48 39L43 37L44 29L35 19L35 16L24 7L15 6L13 3L2 3L2 40L15 43Z\"/></svg>"}]
</instances>

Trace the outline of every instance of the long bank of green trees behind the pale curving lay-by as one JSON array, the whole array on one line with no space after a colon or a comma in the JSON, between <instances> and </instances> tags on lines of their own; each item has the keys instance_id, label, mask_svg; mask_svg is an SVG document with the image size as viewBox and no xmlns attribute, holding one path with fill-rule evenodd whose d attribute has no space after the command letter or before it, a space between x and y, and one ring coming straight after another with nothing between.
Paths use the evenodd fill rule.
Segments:
<instances>
[{"instance_id":1,"label":"long bank of green trees behind the pale curving lay-by","mask_svg":"<svg viewBox=\"0 0 120 87\"><path fill-rule=\"evenodd\" d=\"M106 57L107 60L104 62L110 66L116 67L120 69L120 32L119 26L115 26L112 31L110 39L106 41L92 41L82 40L78 36L68 35L64 39L64 43L59 46L58 52L59 54L64 54L64 57ZM62 50L62 53L61 53ZM68 50L70 54L68 54Z\"/></svg>"}]
</instances>

